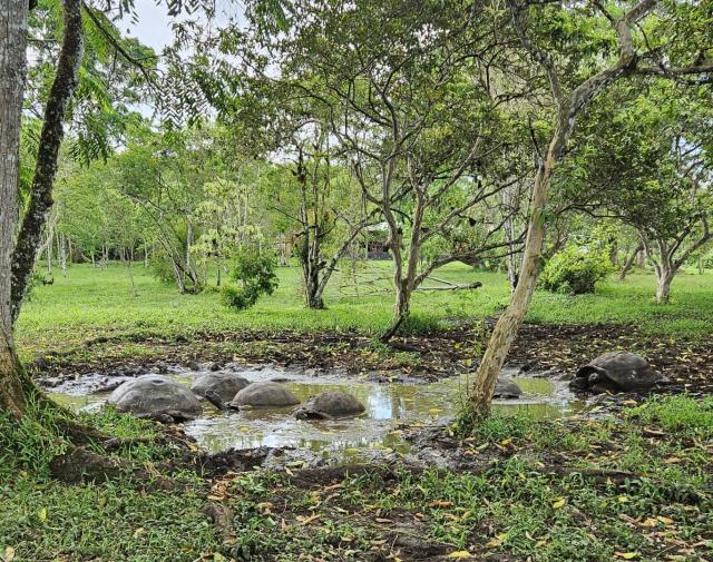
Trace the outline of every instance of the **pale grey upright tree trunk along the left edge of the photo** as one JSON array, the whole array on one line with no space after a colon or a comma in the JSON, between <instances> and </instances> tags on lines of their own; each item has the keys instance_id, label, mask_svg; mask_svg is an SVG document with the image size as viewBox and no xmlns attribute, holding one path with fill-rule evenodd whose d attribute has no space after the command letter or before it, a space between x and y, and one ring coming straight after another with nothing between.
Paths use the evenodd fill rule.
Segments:
<instances>
[{"instance_id":1,"label":"pale grey upright tree trunk along the left edge of the photo","mask_svg":"<svg viewBox=\"0 0 713 562\"><path fill-rule=\"evenodd\" d=\"M12 243L18 218L20 127L27 71L27 0L0 6L0 411L25 408L12 337Z\"/></svg>"}]
</instances>

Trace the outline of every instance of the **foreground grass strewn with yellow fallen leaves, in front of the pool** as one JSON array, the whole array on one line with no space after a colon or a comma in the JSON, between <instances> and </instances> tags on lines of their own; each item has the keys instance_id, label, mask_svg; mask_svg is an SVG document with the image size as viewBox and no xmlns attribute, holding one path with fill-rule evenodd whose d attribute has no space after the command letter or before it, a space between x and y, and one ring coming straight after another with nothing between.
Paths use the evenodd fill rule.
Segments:
<instances>
[{"instance_id":1,"label":"foreground grass strewn with yellow fallen leaves, in front of the pool","mask_svg":"<svg viewBox=\"0 0 713 562\"><path fill-rule=\"evenodd\" d=\"M397 525L469 560L666 560L662 552L710 560L712 406L680 395L625 410L618 421L494 416L460 442L466 455L482 459L471 472L392 464L393 477L374 470L306 489L289 471L227 473L208 497L232 510L226 542L202 512L208 486L195 475L175 475L183 487L170 492L129 476L68 486L41 470L47 441L28 442L0 420L0 560L412 560L394 543ZM111 413L96 424L111 435L154 432ZM657 436L644 437L642 425ZM635 476L594 481L547 466Z\"/></svg>"}]
</instances>

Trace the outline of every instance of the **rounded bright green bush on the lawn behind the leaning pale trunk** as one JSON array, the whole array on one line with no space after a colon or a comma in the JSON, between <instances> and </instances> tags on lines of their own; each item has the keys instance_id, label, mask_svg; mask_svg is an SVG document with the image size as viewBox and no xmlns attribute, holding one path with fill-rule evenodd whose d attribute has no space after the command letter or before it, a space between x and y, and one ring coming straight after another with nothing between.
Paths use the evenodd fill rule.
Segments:
<instances>
[{"instance_id":1,"label":"rounded bright green bush on the lawn behind the leaning pale trunk","mask_svg":"<svg viewBox=\"0 0 713 562\"><path fill-rule=\"evenodd\" d=\"M594 293L597 282L612 272L608 248L567 245L547 263L540 284L553 293Z\"/></svg>"}]
</instances>

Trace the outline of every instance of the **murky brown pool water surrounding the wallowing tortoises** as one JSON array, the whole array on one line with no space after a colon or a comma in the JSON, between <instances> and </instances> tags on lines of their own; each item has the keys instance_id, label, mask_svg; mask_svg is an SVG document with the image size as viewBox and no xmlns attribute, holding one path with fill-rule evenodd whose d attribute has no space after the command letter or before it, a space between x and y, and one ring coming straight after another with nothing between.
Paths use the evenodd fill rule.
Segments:
<instances>
[{"instance_id":1,"label":"murky brown pool water surrounding the wallowing tortoises","mask_svg":"<svg viewBox=\"0 0 713 562\"><path fill-rule=\"evenodd\" d=\"M294 407L218 412L204 405L204 417L184 425L185 432L209 451L231 447L294 446L313 452L356 453L363 448L408 451L399 426L429 425L456 414L468 385L466 376L429 384L378 383L364 378L335 375L311 376L300 371L279 367L241 369L250 381L279 377L301 401L323 391L343 391L356 396L365 406L363 415L338 421L300 421ZM191 385L196 373L176 369L168 374L177 382ZM566 390L564 383L545 378L512 377L524 394L517 400L495 401L497 411L528 412L540 418L567 416L583 406ZM118 383L115 382L115 384ZM53 388L51 396L76 410L101 406L108 392L88 394L99 382L80 378ZM325 453L326 454L326 453Z\"/></svg>"}]
</instances>

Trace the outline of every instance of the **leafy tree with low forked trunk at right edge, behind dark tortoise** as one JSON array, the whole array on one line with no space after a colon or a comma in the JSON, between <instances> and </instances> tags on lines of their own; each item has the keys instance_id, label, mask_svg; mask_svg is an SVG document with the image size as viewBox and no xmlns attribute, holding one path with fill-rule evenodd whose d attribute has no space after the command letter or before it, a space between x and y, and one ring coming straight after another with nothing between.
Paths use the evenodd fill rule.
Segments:
<instances>
[{"instance_id":1,"label":"leafy tree with low forked trunk at right edge, behind dark tortoise","mask_svg":"<svg viewBox=\"0 0 713 562\"><path fill-rule=\"evenodd\" d=\"M573 159L582 179L574 189L592 191L592 211L604 209L637 231L658 303L668 300L681 267L713 239L710 97L661 79L619 88L583 124L586 141Z\"/></svg>"}]
</instances>

